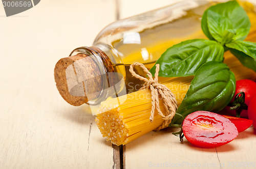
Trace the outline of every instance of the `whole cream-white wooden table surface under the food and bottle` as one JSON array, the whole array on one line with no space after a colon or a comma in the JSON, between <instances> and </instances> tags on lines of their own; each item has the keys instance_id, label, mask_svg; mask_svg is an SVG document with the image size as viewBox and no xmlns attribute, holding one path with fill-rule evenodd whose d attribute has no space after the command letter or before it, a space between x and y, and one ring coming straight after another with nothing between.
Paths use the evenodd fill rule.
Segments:
<instances>
[{"instance_id":1,"label":"whole cream-white wooden table surface under the food and bottle","mask_svg":"<svg viewBox=\"0 0 256 169\"><path fill-rule=\"evenodd\" d=\"M11 17L0 5L0 168L255 168L252 127L212 149L180 143L172 129L116 147L86 105L69 105L55 87L55 63L104 26L174 2L42 0Z\"/></svg>"}]
</instances>

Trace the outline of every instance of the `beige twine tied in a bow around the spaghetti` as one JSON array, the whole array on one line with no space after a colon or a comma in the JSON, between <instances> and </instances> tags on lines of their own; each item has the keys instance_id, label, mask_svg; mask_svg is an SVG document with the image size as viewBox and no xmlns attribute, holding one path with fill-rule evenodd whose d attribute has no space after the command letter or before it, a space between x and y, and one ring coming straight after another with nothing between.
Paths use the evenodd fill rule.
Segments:
<instances>
[{"instance_id":1,"label":"beige twine tied in a bow around the spaghetti","mask_svg":"<svg viewBox=\"0 0 256 169\"><path fill-rule=\"evenodd\" d=\"M134 67L139 66L143 69L143 71L147 74L148 78L142 77L135 73ZM153 76L150 71L147 70L147 68L141 64L141 63L134 63L130 66L131 74L140 80L145 81L144 85L140 90L142 89L150 89L151 90L151 98L152 98L152 109L151 109L151 116L150 121L154 121L154 114L155 109L157 109L159 116L164 120L163 123L156 129L161 130L163 128L168 127L170 122L172 122L172 119L176 113L176 110L178 108L177 106L177 100L175 99L175 95L170 91L166 86L162 85L161 83L158 83L158 72L159 72L159 64L156 65L156 73L155 73L155 79L153 79ZM165 113L160 109L159 106L159 97L163 99L163 104L165 108Z\"/></svg>"}]
</instances>

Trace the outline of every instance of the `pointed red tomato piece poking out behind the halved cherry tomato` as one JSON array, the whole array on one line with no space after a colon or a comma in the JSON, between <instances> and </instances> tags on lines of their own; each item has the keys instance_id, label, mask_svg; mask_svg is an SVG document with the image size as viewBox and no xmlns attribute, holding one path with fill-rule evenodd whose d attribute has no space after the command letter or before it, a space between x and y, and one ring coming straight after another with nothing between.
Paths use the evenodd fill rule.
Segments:
<instances>
[{"instance_id":1,"label":"pointed red tomato piece poking out behind the halved cherry tomato","mask_svg":"<svg viewBox=\"0 0 256 169\"><path fill-rule=\"evenodd\" d=\"M225 118L228 118L238 129L238 132L242 132L249 128L252 125L252 120L244 119L244 118L237 118L232 116L225 116Z\"/></svg>"}]
</instances>

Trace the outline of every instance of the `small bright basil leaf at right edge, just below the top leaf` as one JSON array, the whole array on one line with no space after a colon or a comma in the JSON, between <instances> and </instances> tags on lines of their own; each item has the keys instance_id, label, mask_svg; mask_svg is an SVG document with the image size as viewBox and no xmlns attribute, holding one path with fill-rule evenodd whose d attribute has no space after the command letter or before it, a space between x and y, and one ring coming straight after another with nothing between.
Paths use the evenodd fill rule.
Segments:
<instances>
[{"instance_id":1,"label":"small bright basil leaf at right edge, just below the top leaf","mask_svg":"<svg viewBox=\"0 0 256 169\"><path fill-rule=\"evenodd\" d=\"M227 47L239 50L249 57L256 59L256 43L247 41L233 41L226 44Z\"/></svg>"}]
</instances>

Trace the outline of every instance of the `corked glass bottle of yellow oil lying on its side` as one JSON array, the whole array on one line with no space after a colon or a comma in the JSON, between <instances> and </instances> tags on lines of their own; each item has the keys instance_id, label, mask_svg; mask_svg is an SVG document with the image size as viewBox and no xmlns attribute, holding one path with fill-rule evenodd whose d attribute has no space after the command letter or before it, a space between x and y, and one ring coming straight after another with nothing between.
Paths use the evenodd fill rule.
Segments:
<instances>
[{"instance_id":1,"label":"corked glass bottle of yellow oil lying on its side","mask_svg":"<svg viewBox=\"0 0 256 169\"><path fill-rule=\"evenodd\" d=\"M206 38L201 31L201 16L215 3L182 1L106 26L93 46L78 47L70 57L58 61L54 75L59 93L78 106L138 90L143 82L131 76L130 65L140 62L150 69L168 47L187 39ZM243 5L252 7L245 10L255 18L255 7ZM145 76L140 69L136 71Z\"/></svg>"}]
</instances>

